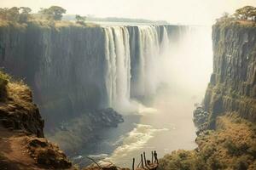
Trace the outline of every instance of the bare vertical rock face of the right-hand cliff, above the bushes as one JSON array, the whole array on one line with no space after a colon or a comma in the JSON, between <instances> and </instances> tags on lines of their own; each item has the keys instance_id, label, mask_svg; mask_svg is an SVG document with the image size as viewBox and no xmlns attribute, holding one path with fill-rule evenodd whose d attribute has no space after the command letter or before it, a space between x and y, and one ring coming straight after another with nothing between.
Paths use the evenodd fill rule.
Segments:
<instances>
[{"instance_id":1,"label":"bare vertical rock face of the right-hand cliff, above the bushes","mask_svg":"<svg viewBox=\"0 0 256 170\"><path fill-rule=\"evenodd\" d=\"M212 45L213 73L204 99L209 127L227 111L256 122L256 27L217 23Z\"/></svg>"}]
</instances>

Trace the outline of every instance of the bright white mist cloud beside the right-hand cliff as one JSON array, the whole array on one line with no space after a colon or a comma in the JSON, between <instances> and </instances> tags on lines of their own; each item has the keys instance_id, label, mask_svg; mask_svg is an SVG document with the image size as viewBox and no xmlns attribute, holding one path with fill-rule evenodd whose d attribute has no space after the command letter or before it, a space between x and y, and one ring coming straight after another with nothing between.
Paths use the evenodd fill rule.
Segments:
<instances>
[{"instance_id":1,"label":"bright white mist cloud beside the right-hand cliff","mask_svg":"<svg viewBox=\"0 0 256 170\"><path fill-rule=\"evenodd\" d=\"M168 42L159 63L160 82L183 94L205 93L212 72L212 30L189 26L177 40Z\"/></svg>"}]
</instances>

